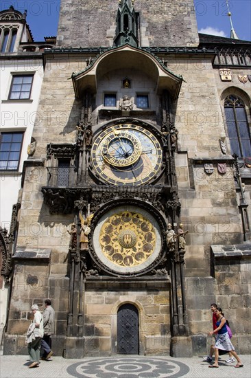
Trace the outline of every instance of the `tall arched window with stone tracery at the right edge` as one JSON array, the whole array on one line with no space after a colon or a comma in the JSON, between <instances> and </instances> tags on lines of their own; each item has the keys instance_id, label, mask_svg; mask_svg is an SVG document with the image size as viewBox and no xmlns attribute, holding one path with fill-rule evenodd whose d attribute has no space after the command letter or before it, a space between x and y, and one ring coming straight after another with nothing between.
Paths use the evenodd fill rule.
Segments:
<instances>
[{"instance_id":1,"label":"tall arched window with stone tracery at the right edge","mask_svg":"<svg viewBox=\"0 0 251 378\"><path fill-rule=\"evenodd\" d=\"M243 101L231 94L225 99L224 108L231 153L237 153L239 157L250 157L250 131Z\"/></svg>"}]
</instances>

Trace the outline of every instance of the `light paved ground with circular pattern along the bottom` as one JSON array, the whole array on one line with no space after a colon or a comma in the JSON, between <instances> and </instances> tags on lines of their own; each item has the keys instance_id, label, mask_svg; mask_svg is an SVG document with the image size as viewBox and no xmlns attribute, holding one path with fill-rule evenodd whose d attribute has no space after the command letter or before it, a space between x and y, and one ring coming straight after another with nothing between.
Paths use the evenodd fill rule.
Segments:
<instances>
[{"instance_id":1,"label":"light paved ground with circular pattern along the bottom","mask_svg":"<svg viewBox=\"0 0 251 378\"><path fill-rule=\"evenodd\" d=\"M53 357L41 361L38 368L29 369L26 355L0 356L1 378L250 378L251 357L240 356L243 368L226 364L227 357L219 360L219 368L210 369L202 356L174 358L157 356L115 356L64 359Z\"/></svg>"}]
</instances>

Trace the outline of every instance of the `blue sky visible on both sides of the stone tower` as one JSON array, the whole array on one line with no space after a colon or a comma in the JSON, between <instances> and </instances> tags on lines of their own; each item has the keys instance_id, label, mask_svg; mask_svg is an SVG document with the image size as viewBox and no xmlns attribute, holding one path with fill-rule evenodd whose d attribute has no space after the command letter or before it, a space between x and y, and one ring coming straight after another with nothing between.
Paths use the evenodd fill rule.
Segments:
<instances>
[{"instance_id":1,"label":"blue sky visible on both sides of the stone tower","mask_svg":"<svg viewBox=\"0 0 251 378\"><path fill-rule=\"evenodd\" d=\"M200 33L230 37L226 0L194 0L194 3ZM228 0L228 4L237 36L251 41L251 0ZM10 5L20 12L27 10L26 20L36 42L44 41L45 36L56 36L60 0L0 0L0 10Z\"/></svg>"}]
</instances>

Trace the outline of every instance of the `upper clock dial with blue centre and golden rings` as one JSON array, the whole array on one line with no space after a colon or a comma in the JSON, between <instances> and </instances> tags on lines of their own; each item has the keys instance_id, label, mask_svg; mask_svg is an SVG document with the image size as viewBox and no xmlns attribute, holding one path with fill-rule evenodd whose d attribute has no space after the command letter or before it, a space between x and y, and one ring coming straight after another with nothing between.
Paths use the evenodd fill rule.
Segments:
<instances>
[{"instance_id":1,"label":"upper clock dial with blue centre and golden rings","mask_svg":"<svg viewBox=\"0 0 251 378\"><path fill-rule=\"evenodd\" d=\"M95 174L113 185L142 185L160 173L162 148L147 129L119 124L102 131L91 151Z\"/></svg>"}]
</instances>

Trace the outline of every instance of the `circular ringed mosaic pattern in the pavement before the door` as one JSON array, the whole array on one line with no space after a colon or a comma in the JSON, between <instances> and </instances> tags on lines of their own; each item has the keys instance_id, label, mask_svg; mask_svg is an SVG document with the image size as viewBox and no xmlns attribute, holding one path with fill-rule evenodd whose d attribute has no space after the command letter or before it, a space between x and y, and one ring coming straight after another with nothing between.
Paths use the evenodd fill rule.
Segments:
<instances>
[{"instance_id":1,"label":"circular ringed mosaic pattern in the pavement before the door","mask_svg":"<svg viewBox=\"0 0 251 378\"><path fill-rule=\"evenodd\" d=\"M189 373L189 367L168 359L110 357L77 362L67 373L77 378L178 378Z\"/></svg>"}]
</instances>

